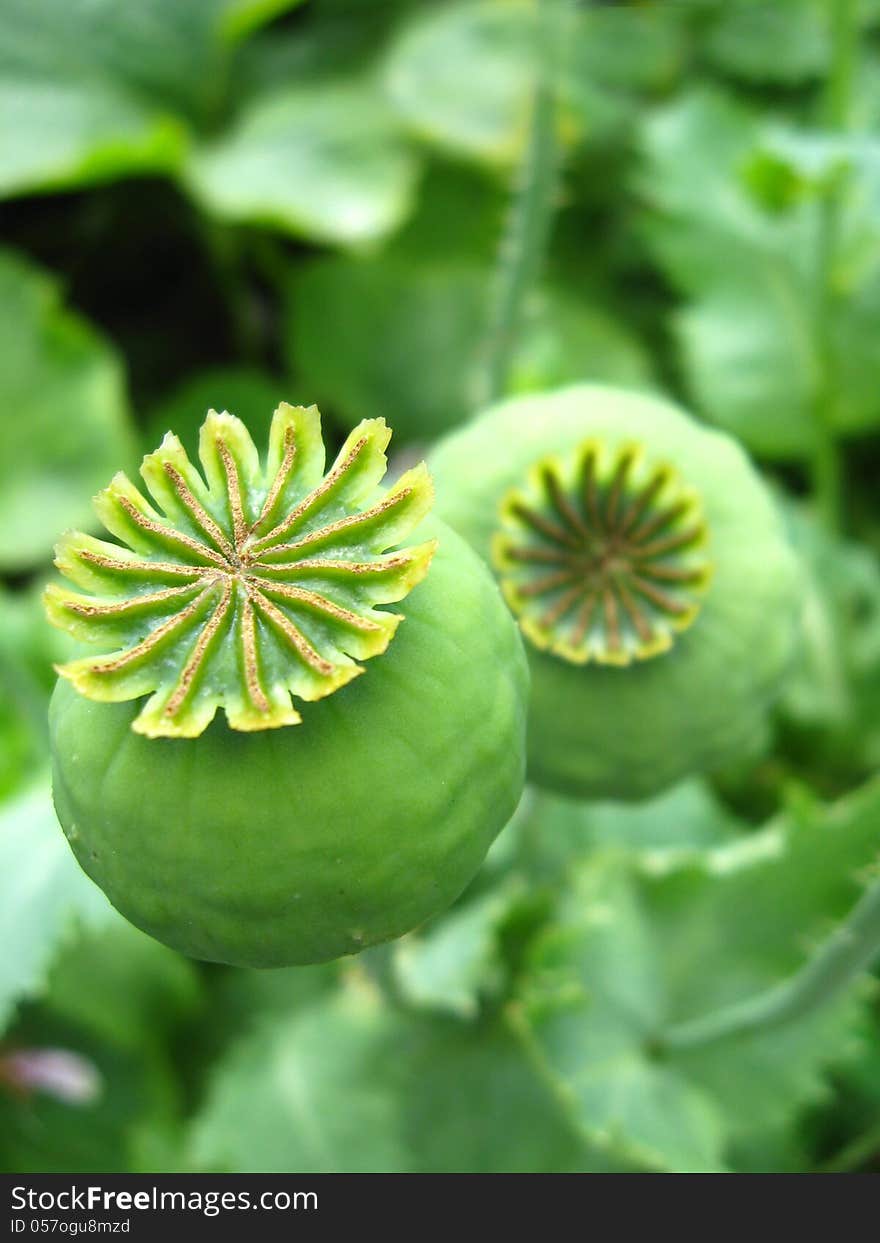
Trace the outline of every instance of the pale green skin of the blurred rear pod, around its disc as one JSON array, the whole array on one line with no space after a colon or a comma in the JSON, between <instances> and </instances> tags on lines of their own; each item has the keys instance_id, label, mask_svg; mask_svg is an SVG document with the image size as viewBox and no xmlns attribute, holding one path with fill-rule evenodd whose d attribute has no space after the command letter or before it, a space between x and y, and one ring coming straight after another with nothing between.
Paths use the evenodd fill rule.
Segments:
<instances>
[{"instance_id":1,"label":"pale green skin of the blurred rear pod, around its disc","mask_svg":"<svg viewBox=\"0 0 880 1243\"><path fill-rule=\"evenodd\" d=\"M491 563L505 493L534 461L589 438L641 443L699 488L715 573L691 628L651 660L573 665L527 643L528 774L579 797L649 798L754 750L789 664L799 576L771 496L730 436L659 398L600 385L501 403L441 441L430 459L438 513Z\"/></svg>"}]
</instances>

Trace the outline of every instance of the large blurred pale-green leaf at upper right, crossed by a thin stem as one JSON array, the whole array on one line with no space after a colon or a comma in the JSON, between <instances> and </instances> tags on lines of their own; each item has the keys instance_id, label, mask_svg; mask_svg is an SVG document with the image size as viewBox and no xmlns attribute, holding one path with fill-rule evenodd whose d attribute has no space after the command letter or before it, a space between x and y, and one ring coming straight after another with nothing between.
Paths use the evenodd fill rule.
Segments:
<instances>
[{"instance_id":1,"label":"large blurred pale-green leaf at upper right, crossed by a thin stem","mask_svg":"<svg viewBox=\"0 0 880 1243\"><path fill-rule=\"evenodd\" d=\"M643 153L643 231L691 298L674 328L697 408L774 457L810 455L819 403L840 435L876 426L876 142L792 132L697 89L648 122Z\"/></svg>"}]
</instances>

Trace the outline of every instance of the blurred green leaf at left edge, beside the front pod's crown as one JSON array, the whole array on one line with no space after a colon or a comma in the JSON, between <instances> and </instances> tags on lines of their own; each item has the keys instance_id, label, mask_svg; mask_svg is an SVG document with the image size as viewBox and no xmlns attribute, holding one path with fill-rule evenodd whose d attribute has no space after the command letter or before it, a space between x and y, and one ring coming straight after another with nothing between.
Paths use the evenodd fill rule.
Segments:
<instances>
[{"instance_id":1,"label":"blurred green leaf at left edge, beside the front pod's crown","mask_svg":"<svg viewBox=\"0 0 880 1243\"><path fill-rule=\"evenodd\" d=\"M131 461L122 368L53 280L0 252L0 569L35 566L92 525L89 497Z\"/></svg>"}]
</instances>

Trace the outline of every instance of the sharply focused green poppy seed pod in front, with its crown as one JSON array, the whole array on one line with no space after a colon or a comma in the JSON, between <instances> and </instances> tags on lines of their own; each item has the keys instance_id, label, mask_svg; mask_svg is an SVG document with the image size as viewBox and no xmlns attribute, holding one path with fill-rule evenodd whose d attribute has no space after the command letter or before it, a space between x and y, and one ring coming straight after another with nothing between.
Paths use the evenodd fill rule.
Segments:
<instances>
[{"instance_id":1,"label":"sharply focused green poppy seed pod in front, with its crown","mask_svg":"<svg viewBox=\"0 0 880 1243\"><path fill-rule=\"evenodd\" d=\"M80 590L50 587L50 620L103 648L58 669L58 818L118 910L193 957L400 936L457 896L522 791L516 626L423 521L424 465L379 487L389 436L360 424L324 474L313 406L278 408L265 460L211 411L204 474L168 435L152 501L124 475L96 498L118 542L58 544Z\"/></svg>"}]
</instances>

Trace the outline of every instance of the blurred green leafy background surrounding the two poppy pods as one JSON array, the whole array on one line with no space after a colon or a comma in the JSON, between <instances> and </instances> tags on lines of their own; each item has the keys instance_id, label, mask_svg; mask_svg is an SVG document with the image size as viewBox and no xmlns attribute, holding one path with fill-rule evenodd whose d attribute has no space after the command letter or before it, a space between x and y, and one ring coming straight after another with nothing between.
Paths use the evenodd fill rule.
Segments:
<instances>
[{"instance_id":1,"label":"blurred green leafy background surrounding the two poppy pods","mask_svg":"<svg viewBox=\"0 0 880 1243\"><path fill-rule=\"evenodd\" d=\"M664 390L757 456L804 566L763 755L641 807L527 791L447 915L259 975L80 873L39 590L89 495L209 405L257 435L281 399L384 415L405 454L474 411L537 7L0 0L2 1168L879 1167L870 979L654 1039L791 975L880 858L880 5L853 9L841 65L833 0L574 6L510 374Z\"/></svg>"}]
</instances>

